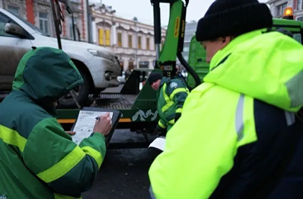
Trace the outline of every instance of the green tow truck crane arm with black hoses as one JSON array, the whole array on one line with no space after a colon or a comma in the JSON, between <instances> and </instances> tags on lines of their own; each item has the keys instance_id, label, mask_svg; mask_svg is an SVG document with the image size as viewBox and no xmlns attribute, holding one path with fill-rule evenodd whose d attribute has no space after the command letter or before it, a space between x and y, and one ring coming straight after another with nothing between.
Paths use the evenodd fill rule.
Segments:
<instances>
[{"instance_id":1,"label":"green tow truck crane arm with black hoses","mask_svg":"<svg viewBox=\"0 0 303 199\"><path fill-rule=\"evenodd\" d=\"M185 0L185 4L182 0L151 0L154 9L154 37L156 45L156 64L155 68L163 70L164 76L176 75L176 59L180 60L186 70L193 76L195 80L195 86L201 83L198 74L188 65L182 55L184 44L184 31L185 31L185 19L186 8L189 0ZM166 39L160 51L161 43L161 20L160 20L160 3L170 4L169 22L166 32ZM187 86L190 89L194 87Z\"/></svg>"}]
</instances>

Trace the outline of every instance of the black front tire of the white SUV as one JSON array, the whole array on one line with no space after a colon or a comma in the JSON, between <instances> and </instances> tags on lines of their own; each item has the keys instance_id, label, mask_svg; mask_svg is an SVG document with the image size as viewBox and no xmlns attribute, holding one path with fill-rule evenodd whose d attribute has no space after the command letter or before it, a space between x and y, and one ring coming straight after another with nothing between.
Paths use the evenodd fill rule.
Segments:
<instances>
[{"instance_id":1,"label":"black front tire of the white SUV","mask_svg":"<svg viewBox=\"0 0 303 199\"><path fill-rule=\"evenodd\" d=\"M75 98L77 99L78 103L82 107L84 102L87 100L89 95L89 83L88 78L86 77L85 73L81 70L79 70L84 83L77 86L73 90L71 90L75 94ZM73 96L70 93L67 93L63 97L59 99L59 104L57 108L78 108Z\"/></svg>"}]
</instances>

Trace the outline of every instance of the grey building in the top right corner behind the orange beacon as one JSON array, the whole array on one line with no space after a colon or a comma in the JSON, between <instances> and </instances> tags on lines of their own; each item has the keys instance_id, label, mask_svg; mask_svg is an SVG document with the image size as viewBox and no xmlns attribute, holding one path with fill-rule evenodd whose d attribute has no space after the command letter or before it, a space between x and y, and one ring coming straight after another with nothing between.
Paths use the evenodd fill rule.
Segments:
<instances>
[{"instance_id":1,"label":"grey building in the top right corner behind the orange beacon","mask_svg":"<svg viewBox=\"0 0 303 199\"><path fill-rule=\"evenodd\" d=\"M293 8L295 20L303 20L303 0L268 0L273 17L281 18L286 7Z\"/></svg>"}]
</instances>

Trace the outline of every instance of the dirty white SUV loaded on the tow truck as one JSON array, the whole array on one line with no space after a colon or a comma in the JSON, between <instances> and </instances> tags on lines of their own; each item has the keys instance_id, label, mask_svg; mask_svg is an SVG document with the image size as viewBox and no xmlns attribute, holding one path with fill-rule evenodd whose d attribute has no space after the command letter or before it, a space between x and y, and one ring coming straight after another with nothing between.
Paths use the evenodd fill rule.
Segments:
<instances>
[{"instance_id":1,"label":"dirty white SUV loaded on the tow truck","mask_svg":"<svg viewBox=\"0 0 303 199\"><path fill-rule=\"evenodd\" d=\"M84 84L72 90L80 104L89 94L99 94L107 87L120 84L121 75L117 56L106 48L86 42L61 39L62 49L71 57L81 72ZM32 46L58 48L57 38L5 9L0 8L0 92L10 92L21 57ZM70 94L60 99L61 108L77 107Z\"/></svg>"}]
</instances>

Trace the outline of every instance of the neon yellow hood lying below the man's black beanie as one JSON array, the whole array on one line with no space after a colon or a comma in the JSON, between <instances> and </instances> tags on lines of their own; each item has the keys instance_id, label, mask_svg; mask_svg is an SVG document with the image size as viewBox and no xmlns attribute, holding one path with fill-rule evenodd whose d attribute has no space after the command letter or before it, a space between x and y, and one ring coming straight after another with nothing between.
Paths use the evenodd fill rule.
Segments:
<instances>
[{"instance_id":1,"label":"neon yellow hood lying below the man's black beanie","mask_svg":"<svg viewBox=\"0 0 303 199\"><path fill-rule=\"evenodd\" d=\"M264 30L240 35L219 50L203 80L297 111L303 105L303 46Z\"/></svg>"}]
</instances>

